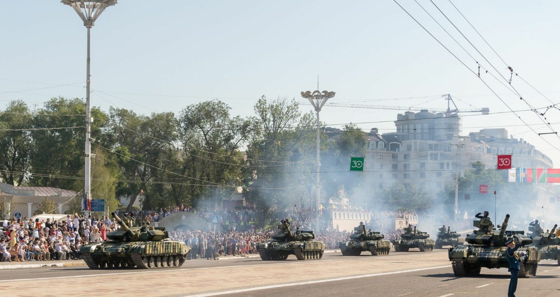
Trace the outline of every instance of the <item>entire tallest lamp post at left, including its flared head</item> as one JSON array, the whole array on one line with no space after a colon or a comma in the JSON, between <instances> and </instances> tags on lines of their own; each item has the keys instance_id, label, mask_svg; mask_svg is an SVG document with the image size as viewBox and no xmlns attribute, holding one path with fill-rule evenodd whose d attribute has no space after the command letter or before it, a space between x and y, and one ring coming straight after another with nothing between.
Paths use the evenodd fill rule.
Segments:
<instances>
[{"instance_id":1,"label":"entire tallest lamp post at left, including its flared head","mask_svg":"<svg viewBox=\"0 0 560 297\"><path fill-rule=\"evenodd\" d=\"M74 8L74 11L78 13L78 16L83 21L83 25L87 28L87 59L86 59L86 143L85 143L85 164L84 164L84 183L83 183L83 195L86 197L86 201L91 199L91 123L93 118L91 117L91 60L90 60L90 40L91 40L91 27L95 25L95 21L105 8L113 6L116 4L117 0L62 0L65 5L69 5ZM87 211L87 206L85 208Z\"/></svg>"}]
</instances>

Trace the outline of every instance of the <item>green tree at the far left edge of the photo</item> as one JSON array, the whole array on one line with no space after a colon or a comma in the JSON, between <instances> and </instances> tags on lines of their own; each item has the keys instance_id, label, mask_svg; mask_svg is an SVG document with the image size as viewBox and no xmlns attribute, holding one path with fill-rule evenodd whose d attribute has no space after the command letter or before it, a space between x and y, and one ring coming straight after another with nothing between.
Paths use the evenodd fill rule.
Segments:
<instances>
[{"instance_id":1,"label":"green tree at the far left edge of the photo","mask_svg":"<svg viewBox=\"0 0 560 297\"><path fill-rule=\"evenodd\" d=\"M14 186L29 177L34 148L31 131L25 130L33 125L29 112L29 107L21 100L11 101L6 110L0 112L0 178Z\"/></svg>"}]
</instances>

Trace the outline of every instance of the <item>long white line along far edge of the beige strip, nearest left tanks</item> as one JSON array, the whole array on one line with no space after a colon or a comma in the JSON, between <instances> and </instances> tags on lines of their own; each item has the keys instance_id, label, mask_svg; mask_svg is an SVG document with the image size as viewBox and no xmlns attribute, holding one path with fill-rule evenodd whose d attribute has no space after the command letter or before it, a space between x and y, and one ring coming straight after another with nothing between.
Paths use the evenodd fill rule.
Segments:
<instances>
[{"instance_id":1,"label":"long white line along far edge of the beige strip, nearest left tanks","mask_svg":"<svg viewBox=\"0 0 560 297\"><path fill-rule=\"evenodd\" d=\"M398 256L384 256L384 257L368 257L368 258L346 258L346 259L333 259L333 260L316 260L317 262L336 262L336 261L362 261L362 260L379 260L384 258L396 258L396 257L414 257L414 256L430 256L431 254L440 254L447 252L437 252L437 253L424 253L424 254L402 254ZM37 277L35 279L15 279L15 280L0 280L0 282L8 281L30 281L30 280L55 280L55 279L72 279L75 277L90 277L90 276L111 276L111 275L122 275L122 274L153 274L157 272L174 272L174 271L184 271L184 270L206 270L206 269L218 269L218 268L236 268L236 267L251 267L251 266L272 266L272 265L308 265L309 261L290 261L283 263L266 263L266 264L254 264L254 265L232 265L232 266L218 266L218 267L199 267L199 268L180 268L180 269L170 269L170 270L148 270L148 271L132 271L132 272L114 272L112 274L90 274L90 275L70 275L70 276L53 276L53 277ZM447 266L445 266L447 267ZM65 271L60 269L60 271Z\"/></svg>"}]
</instances>

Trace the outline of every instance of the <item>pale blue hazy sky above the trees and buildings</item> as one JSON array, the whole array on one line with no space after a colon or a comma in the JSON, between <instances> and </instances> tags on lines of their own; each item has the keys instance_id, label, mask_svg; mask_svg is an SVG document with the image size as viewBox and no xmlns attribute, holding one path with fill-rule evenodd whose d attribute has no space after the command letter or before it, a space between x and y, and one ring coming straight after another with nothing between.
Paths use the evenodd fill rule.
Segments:
<instances>
[{"instance_id":1,"label":"pale blue hazy sky above the trees and buildings","mask_svg":"<svg viewBox=\"0 0 560 297\"><path fill-rule=\"evenodd\" d=\"M509 79L510 65L551 101L560 102L560 3L452 0L506 65L448 0L433 1L502 76ZM502 79L429 0L418 2L474 59ZM416 2L399 3L478 72L475 61ZM85 97L86 29L71 7L57 0L2 0L0 27L0 107L20 98L43 102L52 96ZM97 90L92 100L104 110L113 105L141 114L179 111L191 103L222 98L233 114L252 115L256 98L298 98L301 91L316 89L318 74L321 90L337 92L330 102L445 108L443 99L426 101L450 93L463 101L456 101L459 109L509 111L390 0L119 0L92 29L92 88ZM489 74L482 71L481 78L511 109L528 109ZM53 87L71 83L77 84ZM552 104L519 77L514 76L512 86L534 107ZM13 92L28 89L35 90ZM424 96L430 97L417 98ZM409 97L415 98L375 101ZM325 107L321 118L331 126L363 122L362 128L388 132L394 131L393 122L379 121L395 120L398 112L404 111ZM530 111L518 115L528 124L542 124ZM558 115L560 111L550 110L546 116L554 123L560 122ZM552 147L511 113L466 116L463 134L503 125L509 126L509 134L528 140L560 163L554 148L560 148L560 138L543 135ZM531 127L539 133L550 131L544 125Z\"/></svg>"}]
</instances>

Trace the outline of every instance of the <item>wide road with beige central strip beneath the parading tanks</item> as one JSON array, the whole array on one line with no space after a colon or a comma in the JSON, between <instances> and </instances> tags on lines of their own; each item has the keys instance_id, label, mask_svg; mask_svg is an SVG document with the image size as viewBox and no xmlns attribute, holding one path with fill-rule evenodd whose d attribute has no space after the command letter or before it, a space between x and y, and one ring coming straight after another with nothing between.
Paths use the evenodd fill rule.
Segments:
<instances>
[{"instance_id":1,"label":"wide road with beige central strip beneath the parading tanks","mask_svg":"<svg viewBox=\"0 0 560 297\"><path fill-rule=\"evenodd\" d=\"M41 267L0 271L0 287L12 296L76 296L82 285L111 296L506 296L506 269L482 269L476 277L455 277L445 249L391 252L387 256L322 260L186 261L181 268L90 270ZM39 289L41 288L41 289ZM90 286L91 289L91 286ZM539 263L538 275L520 279L517 296L559 296L560 266Z\"/></svg>"}]
</instances>

